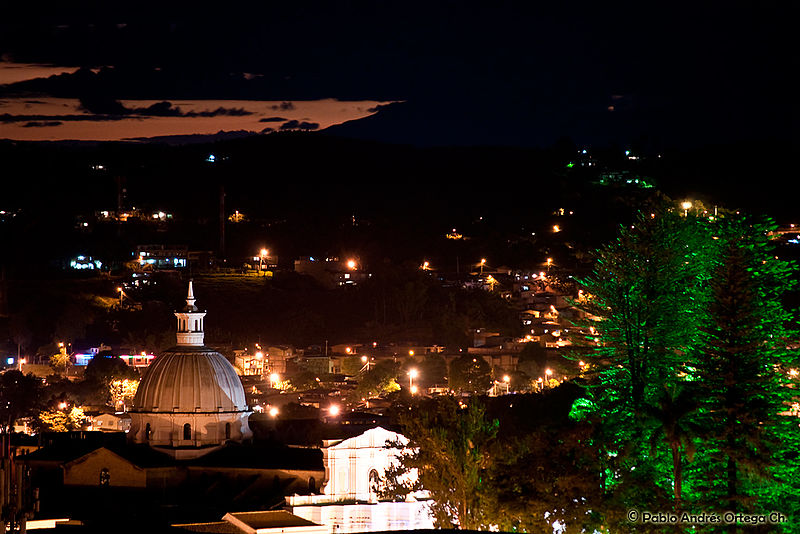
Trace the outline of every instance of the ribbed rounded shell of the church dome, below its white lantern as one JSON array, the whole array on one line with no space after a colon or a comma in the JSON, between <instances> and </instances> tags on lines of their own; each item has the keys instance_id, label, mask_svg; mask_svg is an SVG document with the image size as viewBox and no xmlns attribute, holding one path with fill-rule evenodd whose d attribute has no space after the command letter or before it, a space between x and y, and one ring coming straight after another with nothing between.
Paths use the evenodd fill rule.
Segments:
<instances>
[{"instance_id":1,"label":"ribbed rounded shell of the church dome, below its white lantern","mask_svg":"<svg viewBox=\"0 0 800 534\"><path fill-rule=\"evenodd\" d=\"M225 357L207 347L177 346L144 373L133 412L244 412L244 388Z\"/></svg>"}]
</instances>

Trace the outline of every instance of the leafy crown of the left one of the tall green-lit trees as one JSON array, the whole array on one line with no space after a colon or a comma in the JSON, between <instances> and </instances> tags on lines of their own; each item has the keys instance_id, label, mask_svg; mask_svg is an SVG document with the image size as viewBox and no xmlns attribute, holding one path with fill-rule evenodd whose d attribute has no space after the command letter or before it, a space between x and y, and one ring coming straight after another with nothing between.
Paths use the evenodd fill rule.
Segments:
<instances>
[{"instance_id":1,"label":"leafy crown of the left one of the tall green-lit trees","mask_svg":"<svg viewBox=\"0 0 800 534\"><path fill-rule=\"evenodd\" d=\"M590 358L610 410L641 415L697 344L715 249L707 224L667 204L640 213L598 251L594 272L582 280L582 307L600 319L592 325L602 344Z\"/></svg>"}]
</instances>

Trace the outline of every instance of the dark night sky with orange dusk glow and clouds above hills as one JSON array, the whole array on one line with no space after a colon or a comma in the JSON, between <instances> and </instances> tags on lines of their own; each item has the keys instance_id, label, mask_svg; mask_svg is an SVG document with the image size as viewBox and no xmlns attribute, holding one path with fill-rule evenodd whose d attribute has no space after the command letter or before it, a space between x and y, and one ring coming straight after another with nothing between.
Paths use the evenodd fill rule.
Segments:
<instances>
[{"instance_id":1,"label":"dark night sky with orange dusk glow and clouds above hills","mask_svg":"<svg viewBox=\"0 0 800 534\"><path fill-rule=\"evenodd\" d=\"M251 4L8 9L0 138L86 138L75 133L86 122L97 138L260 131L290 120L284 129L324 129L386 102L398 103L337 131L418 145L569 137L659 151L790 143L796 128L790 2ZM16 64L27 66L12 76ZM36 78L50 72L63 73ZM320 99L359 103L271 113ZM53 102L64 109L33 109ZM169 104L153 107L161 102ZM153 127L165 118L173 129ZM123 119L127 131L111 133Z\"/></svg>"}]
</instances>

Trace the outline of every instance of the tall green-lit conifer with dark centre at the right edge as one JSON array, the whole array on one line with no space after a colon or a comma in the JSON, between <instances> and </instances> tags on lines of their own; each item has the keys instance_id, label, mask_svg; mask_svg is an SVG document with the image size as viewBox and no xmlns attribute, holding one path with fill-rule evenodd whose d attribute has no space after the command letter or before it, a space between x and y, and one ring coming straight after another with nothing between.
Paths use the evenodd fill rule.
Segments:
<instances>
[{"instance_id":1,"label":"tall green-lit conifer with dark centre at the right edge","mask_svg":"<svg viewBox=\"0 0 800 534\"><path fill-rule=\"evenodd\" d=\"M781 485L775 455L791 439L786 431L795 442L798 433L796 425L782 430L780 415L793 393L787 371L797 362L786 350L792 316L781 302L794 285L792 266L774 256L768 230L730 225L695 364L708 431L699 489L720 510L759 511L756 494Z\"/></svg>"}]
</instances>

